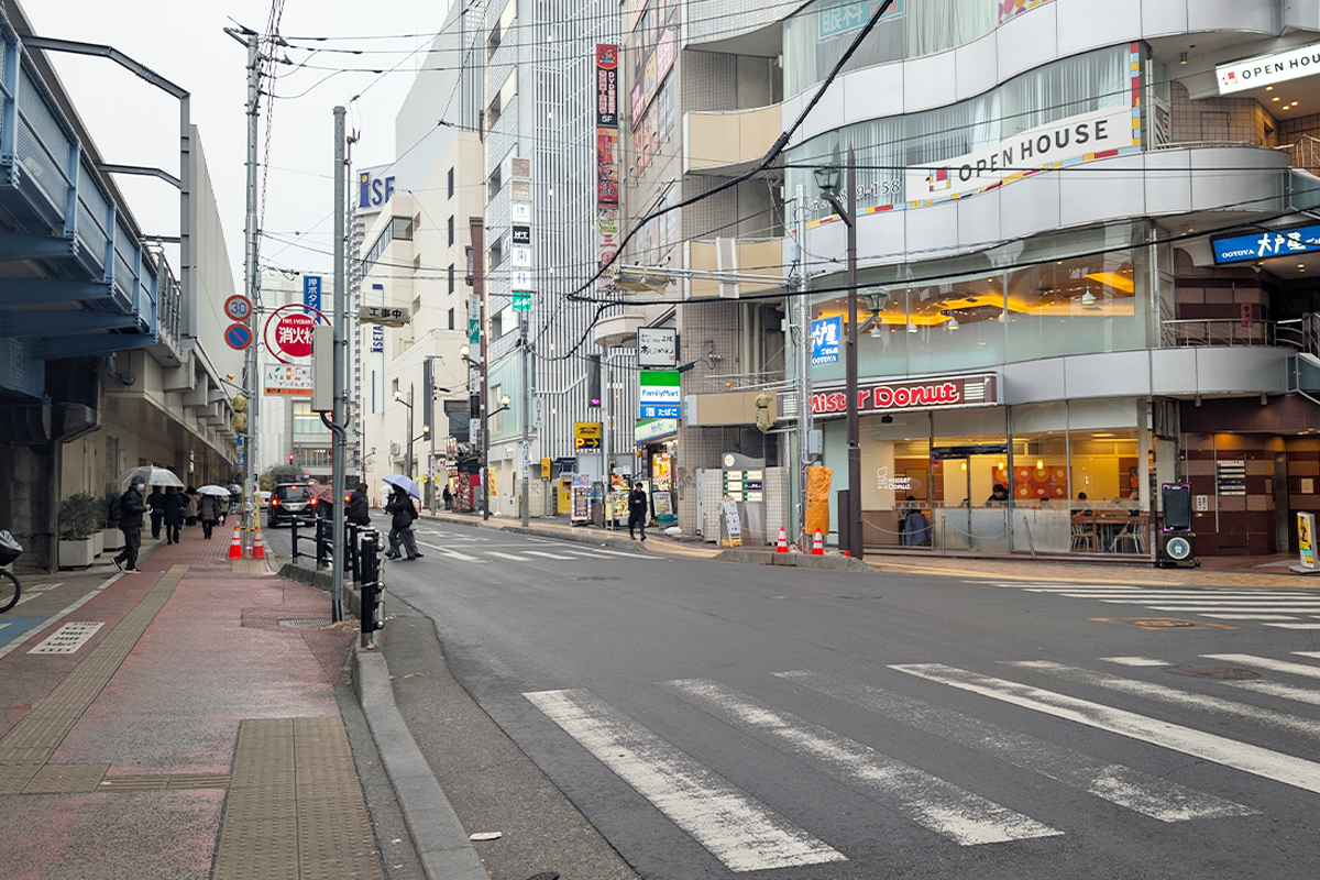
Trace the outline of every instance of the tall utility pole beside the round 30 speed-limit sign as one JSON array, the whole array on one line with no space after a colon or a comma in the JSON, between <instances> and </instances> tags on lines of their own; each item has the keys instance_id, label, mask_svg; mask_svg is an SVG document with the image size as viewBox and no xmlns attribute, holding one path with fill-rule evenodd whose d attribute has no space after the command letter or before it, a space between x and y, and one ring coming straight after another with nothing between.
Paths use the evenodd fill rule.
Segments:
<instances>
[{"instance_id":1,"label":"tall utility pole beside the round 30 speed-limit sign","mask_svg":"<svg viewBox=\"0 0 1320 880\"><path fill-rule=\"evenodd\" d=\"M248 318L249 330L252 331L252 344L248 346L246 365L247 365L247 381L243 383L244 391L248 393L248 429L244 437L244 451L247 456L247 472L249 478L243 480L243 496L248 499L243 508L248 513L248 521L244 524L244 544L251 545L255 520L260 516L260 504L257 501L256 491L261 488L257 483L260 478L260 464L257 463L257 420L260 416L260 402L261 402L261 367L260 359L257 358L257 350L260 343L257 342L260 330L260 319L257 317L257 305L260 302L261 293L261 278L257 274L256 268L256 253L257 253L257 228L256 228L256 120L257 110L261 104L261 75L259 65L261 61L260 51L260 36L256 33L247 34L247 47L248 47L248 100L247 100L247 115L248 115L248 142L247 142L247 219L244 223L244 257L243 257L243 274L247 286L248 299L252 301L252 315Z\"/></svg>"}]
</instances>

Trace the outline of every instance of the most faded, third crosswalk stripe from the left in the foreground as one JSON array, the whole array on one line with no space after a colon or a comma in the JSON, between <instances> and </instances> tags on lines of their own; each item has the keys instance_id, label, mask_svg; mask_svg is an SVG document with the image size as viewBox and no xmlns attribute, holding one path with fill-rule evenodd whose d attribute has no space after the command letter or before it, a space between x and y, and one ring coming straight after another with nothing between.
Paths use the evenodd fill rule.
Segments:
<instances>
[{"instance_id":1,"label":"most faded, third crosswalk stripe from the left in the foreground","mask_svg":"<svg viewBox=\"0 0 1320 880\"><path fill-rule=\"evenodd\" d=\"M1254 815L1257 810L1204 794L1177 782L1155 778L1122 764L1111 764L1064 745L1055 745L962 712L880 690L862 682L810 672L775 673L780 678L884 718L892 718L941 739L1040 773L1118 806L1160 822L1187 822L1228 815Z\"/></svg>"}]
</instances>

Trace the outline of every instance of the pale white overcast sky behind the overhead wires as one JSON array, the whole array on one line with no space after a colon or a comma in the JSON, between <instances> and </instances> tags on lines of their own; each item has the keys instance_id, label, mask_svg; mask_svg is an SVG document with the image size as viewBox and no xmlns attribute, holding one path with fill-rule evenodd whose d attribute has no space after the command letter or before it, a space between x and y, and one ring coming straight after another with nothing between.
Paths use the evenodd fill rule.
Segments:
<instances>
[{"instance_id":1,"label":"pale white overcast sky behind the overhead wires","mask_svg":"<svg viewBox=\"0 0 1320 880\"><path fill-rule=\"evenodd\" d=\"M106 44L150 67L191 94L193 123L201 129L206 161L219 202L220 222L234 268L234 282L243 285L243 211L246 183L247 49L224 33L235 22L263 32L271 16L271 0L20 0L41 36ZM326 67L383 67L400 65L384 77L326 70L300 70L277 80L275 94L300 98L277 99L271 116L271 158L265 183L263 228L280 237L301 234L313 249L261 244L261 261L300 270L330 270L330 211L333 203L334 119L333 108L350 108L348 127L358 129L355 168L380 165L393 158L395 113L412 83L430 36L407 40L366 40L384 34L434 34L447 8L446 0L286 0L279 32L294 37L352 37L321 45L391 54L346 55L317 53L310 65ZM372 13L372 15L367 15ZM306 41L298 41L306 45ZM418 50L412 57L408 53ZM302 62L308 51L289 50ZM145 165L178 173L178 102L104 58L50 53L65 88L91 131L104 161ZM280 73L286 73L281 67ZM263 83L268 87L268 83ZM310 91L308 91L310 88ZM354 96L359 96L352 102ZM265 137L265 104L261 110ZM259 145L263 161L264 144ZM257 185L260 189L261 170ZM178 234L178 190L153 178L117 175L129 207L148 235ZM325 252L325 253L322 253Z\"/></svg>"}]
</instances>

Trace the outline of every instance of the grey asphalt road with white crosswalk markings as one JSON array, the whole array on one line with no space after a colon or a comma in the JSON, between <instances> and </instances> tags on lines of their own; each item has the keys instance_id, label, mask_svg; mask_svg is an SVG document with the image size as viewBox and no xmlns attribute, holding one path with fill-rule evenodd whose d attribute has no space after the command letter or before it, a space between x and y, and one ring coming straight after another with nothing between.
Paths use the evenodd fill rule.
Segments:
<instances>
[{"instance_id":1,"label":"grey asphalt road with white crosswalk markings","mask_svg":"<svg viewBox=\"0 0 1320 880\"><path fill-rule=\"evenodd\" d=\"M391 591L648 880L1280 877L1320 854L1320 594L418 537Z\"/></svg>"}]
</instances>

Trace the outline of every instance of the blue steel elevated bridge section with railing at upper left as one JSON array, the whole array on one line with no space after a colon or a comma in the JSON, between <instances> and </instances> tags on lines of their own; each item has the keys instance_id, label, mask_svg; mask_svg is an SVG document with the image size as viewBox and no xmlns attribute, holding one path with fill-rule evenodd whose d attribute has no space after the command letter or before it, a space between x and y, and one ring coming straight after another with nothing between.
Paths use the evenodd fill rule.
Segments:
<instances>
[{"instance_id":1,"label":"blue steel elevated bridge section with railing at upper left","mask_svg":"<svg viewBox=\"0 0 1320 880\"><path fill-rule=\"evenodd\" d=\"M0 9L0 400L12 402L45 394L49 360L148 346L177 358L180 285L44 71Z\"/></svg>"}]
</instances>

